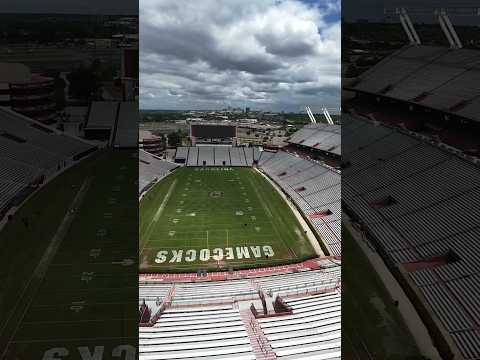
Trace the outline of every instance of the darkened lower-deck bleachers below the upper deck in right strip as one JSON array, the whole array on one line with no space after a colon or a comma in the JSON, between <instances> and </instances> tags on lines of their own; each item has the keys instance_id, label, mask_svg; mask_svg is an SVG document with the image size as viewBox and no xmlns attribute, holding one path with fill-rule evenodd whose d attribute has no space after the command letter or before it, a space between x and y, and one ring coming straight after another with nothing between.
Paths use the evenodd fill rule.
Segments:
<instances>
[{"instance_id":1,"label":"darkened lower-deck bleachers below the upper deck in right strip","mask_svg":"<svg viewBox=\"0 0 480 360\"><path fill-rule=\"evenodd\" d=\"M409 273L468 359L480 358L480 168L393 127L344 115L342 200ZM453 255L453 256L452 256Z\"/></svg>"}]
</instances>

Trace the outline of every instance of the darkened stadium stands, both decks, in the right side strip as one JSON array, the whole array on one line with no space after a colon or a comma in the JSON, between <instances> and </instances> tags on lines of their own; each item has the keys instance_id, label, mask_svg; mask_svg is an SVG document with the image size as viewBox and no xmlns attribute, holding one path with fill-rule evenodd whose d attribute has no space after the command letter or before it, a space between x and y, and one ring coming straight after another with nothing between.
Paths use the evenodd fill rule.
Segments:
<instances>
[{"instance_id":1,"label":"darkened stadium stands, both decks, in the right side strip","mask_svg":"<svg viewBox=\"0 0 480 360\"><path fill-rule=\"evenodd\" d=\"M414 306L432 358L479 359L480 52L454 38L412 41L345 82L342 209Z\"/></svg>"}]
</instances>

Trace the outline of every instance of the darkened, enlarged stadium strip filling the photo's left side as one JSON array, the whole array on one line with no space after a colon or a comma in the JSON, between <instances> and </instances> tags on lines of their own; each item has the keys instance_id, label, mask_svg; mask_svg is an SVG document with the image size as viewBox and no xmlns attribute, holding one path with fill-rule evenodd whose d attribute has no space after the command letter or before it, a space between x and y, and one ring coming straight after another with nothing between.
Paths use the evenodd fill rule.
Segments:
<instances>
[{"instance_id":1,"label":"darkened, enlarged stadium strip filling the photo's left side","mask_svg":"<svg viewBox=\"0 0 480 360\"><path fill-rule=\"evenodd\" d=\"M138 4L0 23L0 358L135 359Z\"/></svg>"}]
</instances>

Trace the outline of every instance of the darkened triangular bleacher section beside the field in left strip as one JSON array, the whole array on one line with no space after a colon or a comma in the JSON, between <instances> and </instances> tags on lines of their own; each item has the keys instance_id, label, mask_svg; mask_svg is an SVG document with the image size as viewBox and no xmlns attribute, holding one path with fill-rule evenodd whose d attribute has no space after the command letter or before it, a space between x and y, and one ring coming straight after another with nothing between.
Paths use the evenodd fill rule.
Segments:
<instances>
[{"instance_id":1,"label":"darkened triangular bleacher section beside the field in left strip","mask_svg":"<svg viewBox=\"0 0 480 360\"><path fill-rule=\"evenodd\" d=\"M93 146L0 108L0 213L42 175L50 176Z\"/></svg>"}]
</instances>

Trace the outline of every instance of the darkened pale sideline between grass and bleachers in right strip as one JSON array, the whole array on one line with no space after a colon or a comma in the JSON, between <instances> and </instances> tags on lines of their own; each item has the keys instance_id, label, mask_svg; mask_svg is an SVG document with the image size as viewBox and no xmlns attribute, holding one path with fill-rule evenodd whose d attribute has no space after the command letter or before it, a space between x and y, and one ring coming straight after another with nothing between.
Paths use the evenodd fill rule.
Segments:
<instances>
[{"instance_id":1,"label":"darkened pale sideline between grass and bleachers in right strip","mask_svg":"<svg viewBox=\"0 0 480 360\"><path fill-rule=\"evenodd\" d=\"M388 270L387 266L383 263L380 255L372 251L372 249L370 249L368 245L361 240L360 233L352 226L349 216L344 212L342 212L342 223L350 232L355 242L362 249L362 252L375 269L391 298L398 300L398 311L402 316L402 319L405 322L408 330L412 334L412 337L422 355L429 359L441 359L437 348L433 345L432 339L425 324L418 315L413 304L410 302L410 299L401 288L400 284L398 284L395 277L390 273L390 270Z\"/></svg>"}]
</instances>

